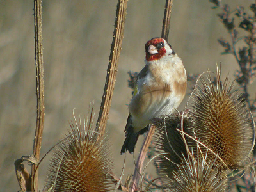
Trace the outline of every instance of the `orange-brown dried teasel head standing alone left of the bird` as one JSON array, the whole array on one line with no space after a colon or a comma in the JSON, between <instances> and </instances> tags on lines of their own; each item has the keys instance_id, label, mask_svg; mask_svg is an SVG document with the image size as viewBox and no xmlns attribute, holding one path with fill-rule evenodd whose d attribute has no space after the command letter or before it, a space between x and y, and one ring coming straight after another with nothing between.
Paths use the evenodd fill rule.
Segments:
<instances>
[{"instance_id":1,"label":"orange-brown dried teasel head standing alone left of the bird","mask_svg":"<svg viewBox=\"0 0 256 192\"><path fill-rule=\"evenodd\" d=\"M91 121L83 124L71 123L69 135L56 147L44 191L111 191L109 143L93 131Z\"/></svg>"}]
</instances>

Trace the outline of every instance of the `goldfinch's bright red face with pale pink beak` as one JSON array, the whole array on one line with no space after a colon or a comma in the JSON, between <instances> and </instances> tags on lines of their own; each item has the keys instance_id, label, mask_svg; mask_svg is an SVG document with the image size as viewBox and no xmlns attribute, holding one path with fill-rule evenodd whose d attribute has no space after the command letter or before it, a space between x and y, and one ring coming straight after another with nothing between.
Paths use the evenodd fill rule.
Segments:
<instances>
[{"instance_id":1,"label":"goldfinch's bright red face with pale pink beak","mask_svg":"<svg viewBox=\"0 0 256 192\"><path fill-rule=\"evenodd\" d=\"M145 49L147 61L159 60L166 54L163 38L152 38L145 44Z\"/></svg>"}]
</instances>

